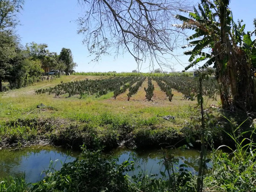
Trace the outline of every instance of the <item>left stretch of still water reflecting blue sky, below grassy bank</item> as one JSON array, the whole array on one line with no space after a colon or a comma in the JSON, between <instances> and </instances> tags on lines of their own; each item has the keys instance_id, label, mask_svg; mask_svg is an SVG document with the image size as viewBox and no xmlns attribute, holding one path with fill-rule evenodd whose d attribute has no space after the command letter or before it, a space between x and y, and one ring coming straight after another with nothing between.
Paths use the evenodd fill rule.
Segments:
<instances>
[{"instance_id":1,"label":"left stretch of still water reflecting blue sky, below grassy bank","mask_svg":"<svg viewBox=\"0 0 256 192\"><path fill-rule=\"evenodd\" d=\"M0 150L0 178L24 176L27 182L37 182L44 177L42 170L49 168L50 161L56 161L59 170L63 163L75 160L77 154L52 146L33 146L21 150Z\"/></svg>"}]
</instances>

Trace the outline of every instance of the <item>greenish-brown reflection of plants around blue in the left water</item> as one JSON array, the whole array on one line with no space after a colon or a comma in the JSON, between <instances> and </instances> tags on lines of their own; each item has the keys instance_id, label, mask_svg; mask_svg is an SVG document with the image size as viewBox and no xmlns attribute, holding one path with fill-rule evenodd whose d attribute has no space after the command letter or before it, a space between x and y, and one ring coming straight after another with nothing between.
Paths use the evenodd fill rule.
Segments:
<instances>
[{"instance_id":1,"label":"greenish-brown reflection of plants around blue in the left water","mask_svg":"<svg viewBox=\"0 0 256 192\"><path fill-rule=\"evenodd\" d=\"M30 156L36 156L42 153L47 155L51 151L54 151L55 153L58 153L61 156L73 156L71 153L67 154L67 150L53 146L31 146L22 148L20 150L0 150L0 178L8 177L9 175L15 177L24 176L24 172L20 172L20 170L14 169L13 167L20 166L20 163L22 163L23 160L28 160Z\"/></svg>"}]
</instances>

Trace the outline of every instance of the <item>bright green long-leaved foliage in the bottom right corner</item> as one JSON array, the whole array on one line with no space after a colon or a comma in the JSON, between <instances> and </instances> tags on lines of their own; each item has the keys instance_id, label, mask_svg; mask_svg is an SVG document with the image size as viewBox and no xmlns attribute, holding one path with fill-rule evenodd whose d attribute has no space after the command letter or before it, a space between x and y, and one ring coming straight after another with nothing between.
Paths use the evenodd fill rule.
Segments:
<instances>
[{"instance_id":1,"label":"bright green long-leaved foliage in the bottom right corner","mask_svg":"<svg viewBox=\"0 0 256 192\"><path fill-rule=\"evenodd\" d=\"M241 125L236 126L228 120L231 132L226 132L235 143L232 148L228 144L221 145L212 153L212 172L205 181L209 188L219 191L255 191L255 127L241 132ZM249 137L244 137L249 135ZM227 148L226 148L227 147ZM224 148L221 151L221 148ZM225 152L226 149L229 152Z\"/></svg>"}]
</instances>

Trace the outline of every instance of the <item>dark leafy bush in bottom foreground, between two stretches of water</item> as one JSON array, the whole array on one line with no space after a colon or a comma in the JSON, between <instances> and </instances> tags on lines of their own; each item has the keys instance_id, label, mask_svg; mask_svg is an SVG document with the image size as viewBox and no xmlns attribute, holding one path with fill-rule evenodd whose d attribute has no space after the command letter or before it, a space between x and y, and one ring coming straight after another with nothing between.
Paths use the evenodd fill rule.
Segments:
<instances>
[{"instance_id":1,"label":"dark leafy bush in bottom foreground, between two stretches of water","mask_svg":"<svg viewBox=\"0 0 256 192\"><path fill-rule=\"evenodd\" d=\"M33 191L134 191L125 174L133 169L129 161L117 164L117 159L105 159L100 151L83 148L80 158L48 173L34 184Z\"/></svg>"}]
</instances>

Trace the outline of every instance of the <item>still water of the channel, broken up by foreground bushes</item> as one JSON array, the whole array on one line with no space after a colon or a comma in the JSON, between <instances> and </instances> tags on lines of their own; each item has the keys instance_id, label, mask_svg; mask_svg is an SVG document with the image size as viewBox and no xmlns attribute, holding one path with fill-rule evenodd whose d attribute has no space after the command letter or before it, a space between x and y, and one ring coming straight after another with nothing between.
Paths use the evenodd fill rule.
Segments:
<instances>
[{"instance_id":1,"label":"still water of the channel, broken up by foreground bushes","mask_svg":"<svg viewBox=\"0 0 256 192\"><path fill-rule=\"evenodd\" d=\"M0 150L0 180L8 176L24 176L27 182L37 182L45 174L44 170L49 169L50 161L54 162L54 168L59 170L63 163L72 162L79 155L78 152L67 152L62 148L53 146L31 146L21 150ZM175 160L174 166L187 164L192 174L197 174L199 152L196 150L150 150L132 151L116 149L106 157L116 157L121 163L126 160L135 161L136 170L129 175L137 174L142 171L147 174L160 174L164 171L163 157Z\"/></svg>"}]
</instances>

